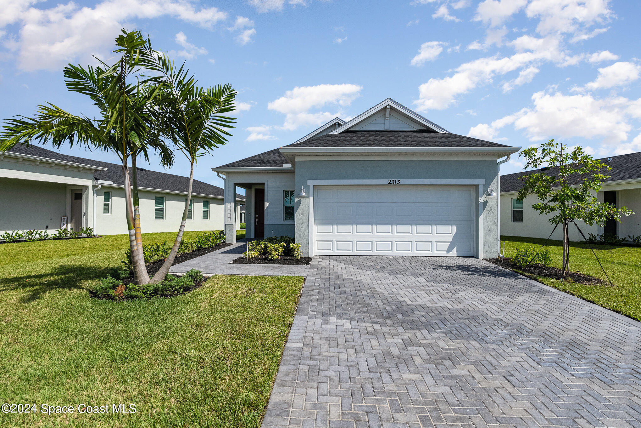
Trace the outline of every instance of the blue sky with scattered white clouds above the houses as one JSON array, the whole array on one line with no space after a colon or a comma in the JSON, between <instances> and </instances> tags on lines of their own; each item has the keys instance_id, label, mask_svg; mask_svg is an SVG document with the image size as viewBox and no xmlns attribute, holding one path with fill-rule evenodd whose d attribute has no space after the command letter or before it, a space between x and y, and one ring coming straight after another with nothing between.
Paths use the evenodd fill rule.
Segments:
<instances>
[{"instance_id":1,"label":"blue sky with scattered white clouds above the houses","mask_svg":"<svg viewBox=\"0 0 641 428\"><path fill-rule=\"evenodd\" d=\"M641 151L633 0L0 0L0 10L2 118L45 102L91 114L62 67L110 58L122 27L186 60L201 85L231 83L237 128L196 169L215 185L211 167L387 97L450 132L511 146L554 138L599 157ZM520 169L517 158L502 173ZM188 162L170 172L188 175Z\"/></svg>"}]
</instances>

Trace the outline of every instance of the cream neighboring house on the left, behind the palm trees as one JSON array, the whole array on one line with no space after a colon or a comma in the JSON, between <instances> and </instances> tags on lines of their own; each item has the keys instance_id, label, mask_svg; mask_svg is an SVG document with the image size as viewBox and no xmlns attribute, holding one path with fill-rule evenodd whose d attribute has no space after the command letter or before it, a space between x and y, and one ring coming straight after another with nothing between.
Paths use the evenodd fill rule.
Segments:
<instances>
[{"instance_id":1,"label":"cream neighboring house on the left, behind the palm trees","mask_svg":"<svg viewBox=\"0 0 641 428\"><path fill-rule=\"evenodd\" d=\"M131 170L131 169L130 169ZM142 232L178 231L187 177L137 169ZM244 198L237 195L237 200ZM194 180L186 230L223 228L222 189ZM0 152L0 233L93 227L126 234L122 166L63 155L39 146Z\"/></svg>"}]
</instances>

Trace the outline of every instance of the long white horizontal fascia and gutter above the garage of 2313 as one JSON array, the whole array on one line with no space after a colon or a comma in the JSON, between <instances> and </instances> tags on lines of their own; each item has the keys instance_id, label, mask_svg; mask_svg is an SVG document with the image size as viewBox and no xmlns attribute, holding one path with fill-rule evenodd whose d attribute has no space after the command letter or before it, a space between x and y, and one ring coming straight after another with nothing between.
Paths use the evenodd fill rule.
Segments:
<instances>
[{"instance_id":1,"label":"long white horizontal fascia and gutter above the garage of 2313","mask_svg":"<svg viewBox=\"0 0 641 428\"><path fill-rule=\"evenodd\" d=\"M362 155L369 154L394 154L399 153L406 155L408 153L429 154L429 153L492 153L497 155L516 153L520 147L281 147L278 149L281 153L298 153L301 155L310 155L317 153L324 155L327 153L358 153Z\"/></svg>"}]
</instances>

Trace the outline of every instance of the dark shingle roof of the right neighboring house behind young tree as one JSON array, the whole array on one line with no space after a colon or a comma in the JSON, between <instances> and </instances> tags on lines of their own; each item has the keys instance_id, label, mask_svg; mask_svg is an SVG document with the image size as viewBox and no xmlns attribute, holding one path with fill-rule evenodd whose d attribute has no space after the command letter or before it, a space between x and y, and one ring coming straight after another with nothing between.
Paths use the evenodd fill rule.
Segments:
<instances>
[{"instance_id":1,"label":"dark shingle roof of the right neighboring house behind young tree","mask_svg":"<svg viewBox=\"0 0 641 428\"><path fill-rule=\"evenodd\" d=\"M612 169L610 171L603 171L608 178L605 182L613 182L618 180L630 180L632 178L641 178L641 151L637 153L629 153L628 155L612 156L612 160L608 158L601 158L604 164L607 164ZM556 175L558 167L550 168L545 171L535 169L533 171L523 171L521 173L514 173L501 176L501 192L515 192L523 187L521 178L531 173L544 172L547 175Z\"/></svg>"}]
</instances>

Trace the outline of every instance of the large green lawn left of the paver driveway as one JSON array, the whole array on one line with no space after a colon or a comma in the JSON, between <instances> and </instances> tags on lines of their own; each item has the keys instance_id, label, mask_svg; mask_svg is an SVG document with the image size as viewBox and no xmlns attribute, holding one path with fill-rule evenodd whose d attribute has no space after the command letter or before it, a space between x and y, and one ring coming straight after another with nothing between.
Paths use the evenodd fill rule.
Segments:
<instances>
[{"instance_id":1,"label":"large green lawn left of the paver driveway","mask_svg":"<svg viewBox=\"0 0 641 428\"><path fill-rule=\"evenodd\" d=\"M217 275L174 298L90 298L127 246L127 235L0 245L0 404L137 409L0 413L0 426L258 427L303 278Z\"/></svg>"}]
</instances>

